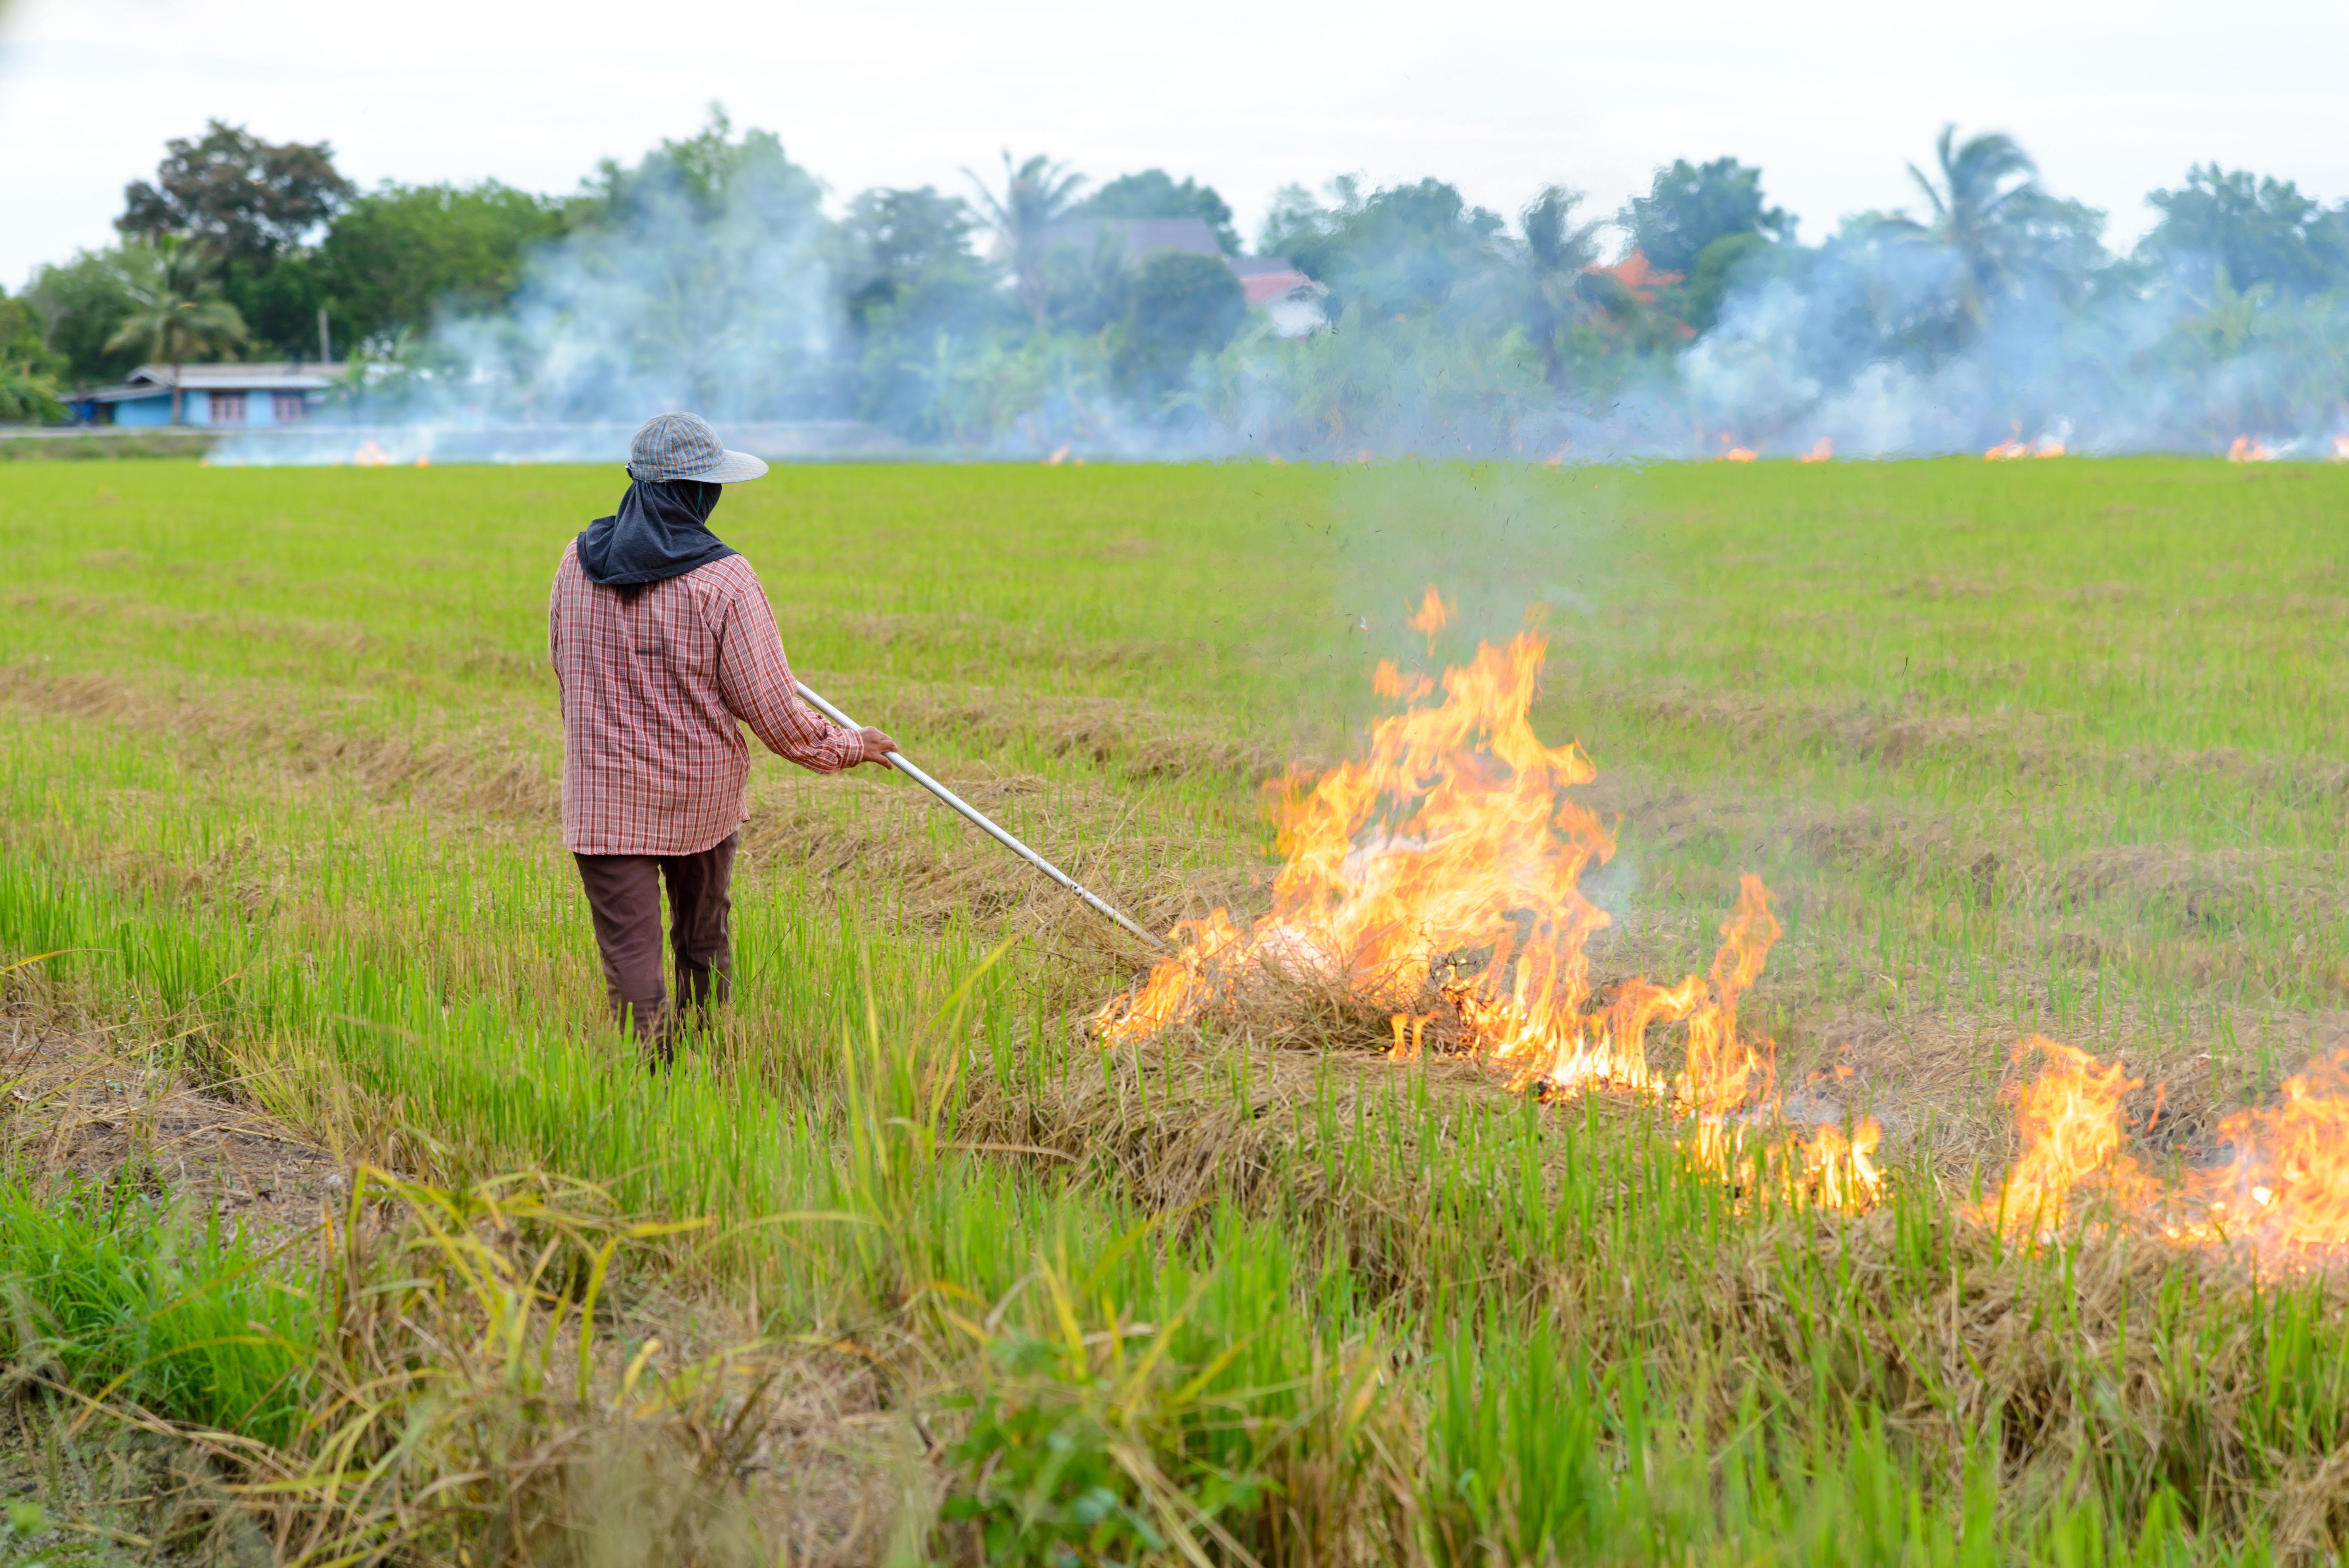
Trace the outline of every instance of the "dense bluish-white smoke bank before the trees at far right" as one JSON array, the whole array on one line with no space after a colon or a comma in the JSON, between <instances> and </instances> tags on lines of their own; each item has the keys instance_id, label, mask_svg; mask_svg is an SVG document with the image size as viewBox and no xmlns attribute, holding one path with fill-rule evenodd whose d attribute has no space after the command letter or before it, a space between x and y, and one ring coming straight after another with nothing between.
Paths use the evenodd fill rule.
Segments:
<instances>
[{"instance_id":1,"label":"dense bluish-white smoke bank before the trees at far right","mask_svg":"<svg viewBox=\"0 0 2349 1568\"><path fill-rule=\"evenodd\" d=\"M2180 268L2030 279L1968 319L1945 249L1872 244L1811 263L1738 282L1675 373L1687 444L1651 425L1640 446L1689 455L1710 437L1802 453L1825 439L1839 455L1893 458L2020 437L2208 453L2253 434L2279 455L2323 455L2349 427L2349 312L2335 296L2279 303L2232 293L2222 275L2194 291Z\"/></svg>"}]
</instances>

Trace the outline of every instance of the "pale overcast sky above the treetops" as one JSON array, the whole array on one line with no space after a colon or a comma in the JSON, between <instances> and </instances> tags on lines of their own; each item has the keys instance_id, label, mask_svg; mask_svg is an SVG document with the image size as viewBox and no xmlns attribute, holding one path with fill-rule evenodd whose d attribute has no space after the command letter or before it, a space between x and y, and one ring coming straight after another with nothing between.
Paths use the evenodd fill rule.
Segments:
<instances>
[{"instance_id":1,"label":"pale overcast sky above the treetops","mask_svg":"<svg viewBox=\"0 0 2349 1568\"><path fill-rule=\"evenodd\" d=\"M961 190L1010 146L1196 174L1243 235L1278 185L1339 171L1435 174L1510 214L1564 181L1611 214L1658 162L1731 153L1806 239L1912 202L1903 167L1954 120L2015 134L2128 242L2201 160L2349 195L2344 80L2344 0L14 0L0 284L108 242L124 181L209 115L331 141L362 183L571 190L723 101L836 197Z\"/></svg>"}]
</instances>

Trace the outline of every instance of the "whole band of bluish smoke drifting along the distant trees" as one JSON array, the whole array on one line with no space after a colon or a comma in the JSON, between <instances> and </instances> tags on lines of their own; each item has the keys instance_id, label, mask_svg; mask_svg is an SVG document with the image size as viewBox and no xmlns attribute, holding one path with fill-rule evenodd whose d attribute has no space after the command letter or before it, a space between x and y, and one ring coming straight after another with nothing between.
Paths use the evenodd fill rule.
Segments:
<instances>
[{"instance_id":1,"label":"whole band of bluish smoke drifting along the distant trees","mask_svg":"<svg viewBox=\"0 0 2349 1568\"><path fill-rule=\"evenodd\" d=\"M2008 439L2206 453L2236 437L2335 455L2349 432L2342 291L2274 298L2215 268L2138 268L2093 228L2086 251L2001 275L1914 232L1757 244L1694 340L1621 298L1534 312L1532 246L1475 230L1440 272L1355 258L1365 279L1409 275L1412 307L1341 284L1325 329L1280 336L1257 315L1189 376L1135 387L1116 277L1043 331L970 256L853 315L869 282L817 181L761 131L733 141L719 122L606 167L594 202L531 258L510 310L376 345L341 432L256 432L216 460L350 460L359 437L388 460L613 460L662 408L780 458L1588 462Z\"/></svg>"}]
</instances>

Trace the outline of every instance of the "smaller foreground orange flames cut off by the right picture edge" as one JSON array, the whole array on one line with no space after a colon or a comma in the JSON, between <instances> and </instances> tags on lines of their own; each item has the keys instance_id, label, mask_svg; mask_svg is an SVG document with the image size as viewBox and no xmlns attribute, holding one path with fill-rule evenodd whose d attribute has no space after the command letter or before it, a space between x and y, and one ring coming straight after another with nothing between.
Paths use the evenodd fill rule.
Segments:
<instances>
[{"instance_id":1,"label":"smaller foreground orange flames cut off by the right picture edge","mask_svg":"<svg viewBox=\"0 0 2349 1568\"><path fill-rule=\"evenodd\" d=\"M2340 1263L2349 1249L2349 1052L2283 1082L2276 1106L2220 1122L2220 1164L2156 1178L2126 1148L2119 1063L2032 1040L2048 1063L2022 1091L2022 1150L1978 1214L2015 1235L2109 1223L2175 1242L2243 1249L2279 1265Z\"/></svg>"}]
</instances>

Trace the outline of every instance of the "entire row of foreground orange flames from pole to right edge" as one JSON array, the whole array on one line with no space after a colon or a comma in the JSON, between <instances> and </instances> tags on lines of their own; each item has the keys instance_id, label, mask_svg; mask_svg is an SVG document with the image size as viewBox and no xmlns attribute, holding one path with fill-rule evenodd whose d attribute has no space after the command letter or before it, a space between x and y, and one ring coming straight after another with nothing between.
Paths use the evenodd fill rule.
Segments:
<instances>
[{"instance_id":1,"label":"entire row of foreground orange flames from pole to right edge","mask_svg":"<svg viewBox=\"0 0 2349 1568\"><path fill-rule=\"evenodd\" d=\"M1409 624L1433 653L1449 620L1431 587ZM1579 883L1614 838L1569 793L1597 772L1583 749L1534 735L1546 648L1539 627L1482 643L1440 688L1379 664L1374 685L1400 711L1372 728L1365 756L1285 779L1271 913L1177 925L1177 955L1102 1007L1097 1030L1151 1035L1233 1007L1273 974L1327 984L1391 1009L1400 1061L1445 1052L1543 1096L1651 1096L1689 1120L1691 1157L1743 1192L1872 1207L1877 1124L1788 1131L1773 1047L1738 1028L1738 998L1781 937L1759 878L1743 878L1705 974L1593 993L1586 944L1609 918ZM1677 1075L1649 1068L1658 1026L1684 1026ZM2227 1117L2222 1164L2170 1178L2128 1153L2126 1101L2142 1080L2053 1040L2027 1052L2046 1066L2015 1099L2022 1148L1973 1221L2027 1239L2109 1223L2262 1263L2349 1261L2349 1052L2286 1080L2276 1106Z\"/></svg>"}]
</instances>

